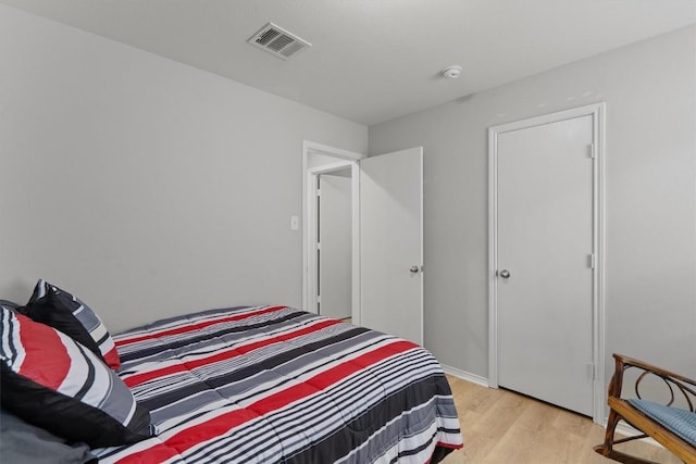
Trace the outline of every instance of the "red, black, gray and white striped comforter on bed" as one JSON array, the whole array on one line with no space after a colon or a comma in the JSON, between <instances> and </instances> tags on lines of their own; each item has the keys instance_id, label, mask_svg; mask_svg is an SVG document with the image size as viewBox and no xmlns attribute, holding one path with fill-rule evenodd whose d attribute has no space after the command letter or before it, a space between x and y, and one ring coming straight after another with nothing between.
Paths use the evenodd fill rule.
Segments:
<instances>
[{"instance_id":1,"label":"red, black, gray and white striped comforter on bed","mask_svg":"<svg viewBox=\"0 0 696 464\"><path fill-rule=\"evenodd\" d=\"M114 337L159 432L103 463L426 463L461 447L414 343L286 306L212 310Z\"/></svg>"}]
</instances>

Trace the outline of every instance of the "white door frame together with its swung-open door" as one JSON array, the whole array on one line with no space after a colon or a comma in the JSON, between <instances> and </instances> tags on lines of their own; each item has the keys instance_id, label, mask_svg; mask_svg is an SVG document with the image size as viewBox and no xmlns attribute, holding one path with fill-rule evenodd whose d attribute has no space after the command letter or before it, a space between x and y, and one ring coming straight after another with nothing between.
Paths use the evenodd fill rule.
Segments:
<instances>
[{"instance_id":1,"label":"white door frame together with its swung-open door","mask_svg":"<svg viewBox=\"0 0 696 464\"><path fill-rule=\"evenodd\" d=\"M351 322L422 344L422 147L366 158L303 142L302 309L326 313L318 234L324 242L326 236L316 187L321 176L345 168L351 186Z\"/></svg>"}]
</instances>

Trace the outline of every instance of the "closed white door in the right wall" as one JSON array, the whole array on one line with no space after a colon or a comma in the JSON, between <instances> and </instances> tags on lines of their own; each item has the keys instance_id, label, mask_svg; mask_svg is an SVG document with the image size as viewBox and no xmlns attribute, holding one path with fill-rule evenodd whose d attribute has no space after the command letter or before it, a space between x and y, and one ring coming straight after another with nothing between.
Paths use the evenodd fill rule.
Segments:
<instances>
[{"instance_id":1,"label":"closed white door in the right wall","mask_svg":"<svg viewBox=\"0 0 696 464\"><path fill-rule=\"evenodd\" d=\"M593 116L497 138L498 384L593 415Z\"/></svg>"}]
</instances>

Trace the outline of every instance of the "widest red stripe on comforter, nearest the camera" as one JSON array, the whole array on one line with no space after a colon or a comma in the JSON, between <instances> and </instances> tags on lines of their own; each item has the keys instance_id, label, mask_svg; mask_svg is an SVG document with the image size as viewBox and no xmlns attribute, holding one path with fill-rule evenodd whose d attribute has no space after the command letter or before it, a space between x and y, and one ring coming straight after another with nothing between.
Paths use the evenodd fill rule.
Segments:
<instances>
[{"instance_id":1,"label":"widest red stripe on comforter, nearest the camera","mask_svg":"<svg viewBox=\"0 0 696 464\"><path fill-rule=\"evenodd\" d=\"M318 374L301 384L294 385L285 390L262 398L243 410L231 411L213 417L202 424L192 425L172 436L163 443L158 443L148 450L142 450L124 456L119 461L119 463L127 464L150 462L149 453L152 451L162 452L162 449L164 448L175 449L179 453L184 453L199 443L226 435L234 427L249 422L252 418L279 410L295 401L323 390L338 380L360 372L372 364L378 363L387 358L406 352L413 348L418 348L418 346L403 340L394 341L384 347L376 348L375 350L362 354L355 360L346 361L345 363Z\"/></svg>"}]
</instances>

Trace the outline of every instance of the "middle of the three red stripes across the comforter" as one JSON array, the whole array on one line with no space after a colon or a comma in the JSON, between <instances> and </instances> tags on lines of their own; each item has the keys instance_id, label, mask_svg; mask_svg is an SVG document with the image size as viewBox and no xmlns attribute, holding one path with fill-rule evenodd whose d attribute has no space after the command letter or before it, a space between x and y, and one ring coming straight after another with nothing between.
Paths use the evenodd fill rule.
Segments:
<instances>
[{"instance_id":1,"label":"middle of the three red stripes across the comforter","mask_svg":"<svg viewBox=\"0 0 696 464\"><path fill-rule=\"evenodd\" d=\"M277 337L273 337L273 338L269 338L265 340L260 340L260 341L254 341L253 343L249 343L249 344L244 344L231 350L226 350L223 352L220 352L217 354L213 354L211 356L207 356L207 358L202 358L200 360L196 360L196 361L189 361L183 364L175 364L175 365L171 365L167 367L162 367L159 369L154 369L154 371L150 371L150 372L146 372L142 374L136 374L136 375L132 375L129 377L124 377L123 381L129 387L133 388L137 385L140 384L145 384L148 380L153 380L156 378L161 378L161 377L165 377L167 375L172 375L172 374L177 374L177 373L182 373L182 372L187 372L187 371L191 371L195 369L197 367L201 367L201 366L206 366L209 364L213 364L213 363L217 363L221 361L225 361L225 360L229 360L232 358L236 358L239 356L241 354L248 353L250 351L253 350L258 350L259 348L262 347L266 347L269 344L273 344L273 343L278 343L282 341L287 341L290 340L293 338L298 338L301 337L303 335L308 335L311 334L313 331L318 331L321 330L323 328L336 325L336 324L340 324L340 321L338 319L326 319L326 321L322 321L318 324L313 324L309 327L304 327L301 328L299 330L295 330L295 331L290 331L287 334L283 334L283 335L278 335Z\"/></svg>"}]
</instances>

